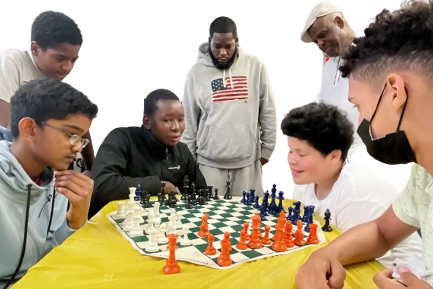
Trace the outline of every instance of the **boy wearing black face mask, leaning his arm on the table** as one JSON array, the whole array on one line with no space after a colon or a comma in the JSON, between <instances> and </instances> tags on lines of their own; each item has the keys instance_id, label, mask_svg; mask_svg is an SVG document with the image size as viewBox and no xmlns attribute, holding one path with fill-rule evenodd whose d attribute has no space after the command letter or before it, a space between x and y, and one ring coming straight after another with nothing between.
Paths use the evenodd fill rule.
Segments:
<instances>
[{"instance_id":1,"label":"boy wearing black face mask, leaning his arm on the table","mask_svg":"<svg viewBox=\"0 0 433 289\"><path fill-rule=\"evenodd\" d=\"M355 39L340 67L349 77L349 100L365 118L359 134L368 152L388 164L417 164L404 191L381 217L354 227L310 256L298 271L299 289L342 288L342 265L378 258L418 228L423 237L418 267L427 274L433 270L431 23L432 0L410 1L393 13L383 10L365 36ZM380 289L431 289L433 275L425 272L402 267L378 273L374 281Z\"/></svg>"}]
</instances>

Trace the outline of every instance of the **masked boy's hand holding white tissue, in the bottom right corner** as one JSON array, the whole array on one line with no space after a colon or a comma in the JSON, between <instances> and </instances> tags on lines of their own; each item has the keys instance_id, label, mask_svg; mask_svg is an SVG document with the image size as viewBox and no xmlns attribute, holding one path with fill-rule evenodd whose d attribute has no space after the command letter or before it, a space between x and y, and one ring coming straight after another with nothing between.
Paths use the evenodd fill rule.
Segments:
<instances>
[{"instance_id":1,"label":"masked boy's hand holding white tissue, in the bottom right corner","mask_svg":"<svg viewBox=\"0 0 433 289\"><path fill-rule=\"evenodd\" d=\"M400 274L401 281L404 283L401 284L397 282L397 280L392 277L393 269L388 269L377 273L373 277L373 281L380 289L431 289L433 288L427 282L419 279L412 272L410 272L406 267L401 267L398 270Z\"/></svg>"}]
</instances>

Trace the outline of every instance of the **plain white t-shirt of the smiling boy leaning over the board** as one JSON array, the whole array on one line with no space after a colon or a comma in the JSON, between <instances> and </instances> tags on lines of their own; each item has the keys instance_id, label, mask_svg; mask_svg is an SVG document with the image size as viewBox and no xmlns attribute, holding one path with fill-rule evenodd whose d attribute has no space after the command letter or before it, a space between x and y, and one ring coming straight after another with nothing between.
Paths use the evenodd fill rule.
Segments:
<instances>
[{"instance_id":1,"label":"plain white t-shirt of the smiling boy leaning over the board","mask_svg":"<svg viewBox=\"0 0 433 289\"><path fill-rule=\"evenodd\" d=\"M385 179L362 164L350 160L343 167L325 199L317 199L314 184L295 185L293 198L301 201L303 205L314 205L315 214L322 218L326 209L329 209L330 224L345 232L381 216L397 195L397 189ZM422 242L417 233L402 241L378 261L387 268L392 268L396 258L414 254L422 256Z\"/></svg>"}]
</instances>

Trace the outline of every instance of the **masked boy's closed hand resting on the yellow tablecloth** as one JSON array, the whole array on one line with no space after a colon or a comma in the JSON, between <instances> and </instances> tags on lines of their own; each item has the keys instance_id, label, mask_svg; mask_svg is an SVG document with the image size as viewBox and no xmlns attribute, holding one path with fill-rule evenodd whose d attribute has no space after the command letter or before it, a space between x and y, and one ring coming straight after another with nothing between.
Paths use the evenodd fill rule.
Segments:
<instances>
[{"instance_id":1,"label":"masked boy's closed hand resting on the yellow tablecloth","mask_svg":"<svg viewBox=\"0 0 433 289\"><path fill-rule=\"evenodd\" d=\"M295 278L298 289L342 289L344 279L346 271L336 259L314 253L299 268Z\"/></svg>"}]
</instances>

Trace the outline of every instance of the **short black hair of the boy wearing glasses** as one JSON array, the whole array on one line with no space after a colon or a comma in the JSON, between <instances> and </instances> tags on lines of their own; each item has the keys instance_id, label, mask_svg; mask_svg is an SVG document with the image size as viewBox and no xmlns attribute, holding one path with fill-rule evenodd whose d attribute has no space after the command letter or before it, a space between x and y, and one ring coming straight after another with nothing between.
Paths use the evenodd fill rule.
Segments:
<instances>
[{"instance_id":1,"label":"short black hair of the boy wearing glasses","mask_svg":"<svg viewBox=\"0 0 433 289\"><path fill-rule=\"evenodd\" d=\"M73 114L84 114L93 120L98 107L81 91L54 78L29 81L10 99L10 131L18 138L18 123L31 117L42 127L50 119L64 120Z\"/></svg>"}]
</instances>

